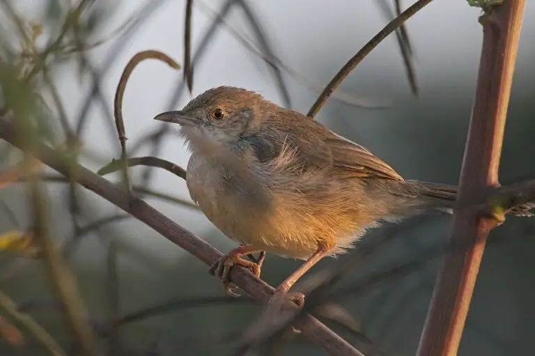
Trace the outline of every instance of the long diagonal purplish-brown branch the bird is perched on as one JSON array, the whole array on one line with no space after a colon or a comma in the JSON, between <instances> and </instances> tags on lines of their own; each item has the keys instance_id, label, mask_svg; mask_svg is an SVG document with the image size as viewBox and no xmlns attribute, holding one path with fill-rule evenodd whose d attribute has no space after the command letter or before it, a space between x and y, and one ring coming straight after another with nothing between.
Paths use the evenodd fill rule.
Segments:
<instances>
[{"instance_id":1,"label":"long diagonal purplish-brown branch the bird is perched on","mask_svg":"<svg viewBox=\"0 0 535 356\"><path fill-rule=\"evenodd\" d=\"M0 138L6 139L10 144L18 148L23 148L15 127L3 119L0 119ZM52 167L52 169L59 171L61 174L68 173L69 167L65 164L59 152L37 142L34 143L34 146L37 148L36 155L38 155L38 158L42 162ZM77 165L77 172L76 178L80 185L102 196L102 198L113 203L125 212L130 213L130 215L144 222L171 242L193 254L196 258L199 258L203 263L212 265L212 263L222 256L222 253L212 247L208 242L178 226L178 224L141 199L135 197L129 199L121 189L118 189L112 183L109 183L104 178L80 165ZM242 291L245 291L245 293L255 300L261 302L267 302L274 291L271 286L267 285L261 279L256 278L249 270L239 266L232 268L231 280ZM332 332L332 330L323 325L323 323L320 323L316 318L313 318L313 316L305 315L296 323L296 327L310 341L325 348L331 355L362 355L347 341Z\"/></svg>"}]
</instances>

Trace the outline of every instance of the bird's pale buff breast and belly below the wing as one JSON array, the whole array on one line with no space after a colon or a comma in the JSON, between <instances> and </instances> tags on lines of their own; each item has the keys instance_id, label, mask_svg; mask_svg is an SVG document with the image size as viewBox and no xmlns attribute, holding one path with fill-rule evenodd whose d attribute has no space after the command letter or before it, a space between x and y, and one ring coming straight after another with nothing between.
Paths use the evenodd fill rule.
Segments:
<instances>
[{"instance_id":1,"label":"bird's pale buff breast and belly below the wing","mask_svg":"<svg viewBox=\"0 0 535 356\"><path fill-rule=\"evenodd\" d=\"M280 196L270 195L267 205L255 203L254 194L248 194L243 188L231 189L238 183L228 176L222 178L225 174L215 173L217 169L213 169L212 164L202 157L192 156L187 167L187 187L210 222L229 238L242 245L293 258L307 258L320 245L333 245L334 235L318 231L317 216L303 216L291 201ZM348 236L339 240L342 245L334 242L340 245L334 253L349 247L350 240L353 238Z\"/></svg>"}]
</instances>

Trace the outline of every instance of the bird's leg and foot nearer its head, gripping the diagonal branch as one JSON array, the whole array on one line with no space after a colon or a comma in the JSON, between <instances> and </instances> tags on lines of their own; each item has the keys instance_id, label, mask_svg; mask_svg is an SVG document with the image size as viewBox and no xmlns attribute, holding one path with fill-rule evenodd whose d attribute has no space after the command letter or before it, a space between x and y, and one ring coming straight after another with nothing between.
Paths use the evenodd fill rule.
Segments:
<instances>
[{"instance_id":1,"label":"bird's leg and foot nearer its head, gripping the diagonal branch","mask_svg":"<svg viewBox=\"0 0 535 356\"><path fill-rule=\"evenodd\" d=\"M231 281L228 279L228 274L231 272L231 268L233 265L241 265L245 268L249 268L256 277L260 277L261 267L265 255L263 255L264 258L261 255L261 258L259 258L258 263L247 261L242 258L242 256L246 254L256 254L256 252L263 252L263 250L258 249L254 246L237 247L228 252L228 254L221 256L217 261L215 261L210 267L210 270L208 270L208 272L222 279L226 293L233 297L238 297L238 294L234 293L231 290Z\"/></svg>"}]
</instances>

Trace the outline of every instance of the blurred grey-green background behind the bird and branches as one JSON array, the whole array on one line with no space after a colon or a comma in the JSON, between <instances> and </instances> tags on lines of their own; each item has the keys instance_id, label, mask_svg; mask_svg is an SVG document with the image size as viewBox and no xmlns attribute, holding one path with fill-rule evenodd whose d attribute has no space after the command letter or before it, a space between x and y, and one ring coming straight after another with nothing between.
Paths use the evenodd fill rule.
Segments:
<instances>
[{"instance_id":1,"label":"blurred grey-green background behind the bird and branches","mask_svg":"<svg viewBox=\"0 0 535 356\"><path fill-rule=\"evenodd\" d=\"M2 1L2 63L10 65L20 51L17 24L11 8L24 26L40 25L36 48L45 49L61 32L69 9L78 1L17 0ZM49 76L63 103L65 117L72 127L86 115L80 139L83 153L79 160L97 171L120 157L120 146L113 123L114 93L121 72L134 54L157 49L181 65L184 63L185 1L88 1L80 23L86 44L95 47L54 55ZM183 72L159 61L144 61L134 70L123 100L123 117L128 137L127 148L134 156L157 155L186 167L189 153L182 139L166 128L160 150L150 141L140 142L160 123L153 117L166 109L179 109L192 97L208 88L232 85L257 91L279 105L307 112L314 100L353 56L389 20L380 1L246 1L254 23L267 38L282 65L282 82L262 56L262 40L240 6L233 6L210 38L199 61L194 63L193 93L181 91L172 102L176 86L183 83ZM8 7L6 7L6 4ZM199 49L215 16L226 1L195 0L192 12L192 49ZM391 3L388 1L389 5ZM403 6L410 6L402 1ZM415 56L419 99L410 91L401 52L395 36L389 36L341 84L337 93L317 116L318 121L348 139L369 148L388 162L404 178L456 184L470 111L474 99L481 51L481 11L466 1L433 1L407 22ZM72 36L71 36L72 37ZM69 35L66 38L71 38ZM104 40L102 43L100 43ZM249 43L245 47L243 42ZM73 40L72 42L75 42ZM74 46L74 45L73 45ZM74 46L73 48L75 48ZM251 48L256 51L251 51ZM194 55L195 57L195 55ZM30 60L29 60L30 61ZM85 62L84 65L80 63ZM535 4L528 1L513 91L506 124L500 180L502 184L535 178ZM27 64L31 67L31 64ZM15 68L19 67L14 67ZM102 100L86 102L93 79L100 77ZM3 77L6 77L5 75ZM5 78L4 78L5 79ZM2 80L4 80L2 79ZM59 137L61 125L54 116L58 109L46 81L36 77L36 92L50 107L49 130ZM9 86L3 82L2 93ZM7 89L6 89L7 88ZM349 101L349 102L348 102ZM383 109L355 106L389 105ZM88 111L84 113L84 105ZM28 103L30 105L30 103ZM47 125L48 125L47 124ZM132 152L134 147L139 149ZM15 162L17 155L0 142L2 169ZM47 171L48 173L48 171ZM49 173L53 173L50 171ZM150 205L181 226L226 252L235 242L226 238L189 202L185 181L167 171L152 169L147 183L144 167L130 169L134 186L146 187L141 194ZM118 173L106 176L121 182ZM80 212L70 213L70 188L61 182L46 185L49 194L51 235L58 245L70 243L76 229L84 229L121 213L104 199L77 189ZM0 190L0 233L30 229L31 201L24 184ZM13 218L15 217L15 218ZM359 268L348 272L340 283L357 284L370 273L388 270L424 254L449 233L451 217L426 215L417 222L384 226L371 231L362 242L380 235L393 234L389 244L367 258ZM78 227L77 227L78 226ZM220 282L208 274L206 265L162 238L133 218L117 217L111 224L88 231L77 239L68 257L77 286L95 324L109 316L110 241L118 249L118 299L121 316L162 304L169 300L204 300L223 297ZM311 270L310 276L352 258L359 250L326 259ZM531 355L535 349L535 219L509 218L492 231L477 280L459 355ZM279 284L300 261L267 256L263 279ZM440 263L440 256L425 259L410 273L386 280L379 286L346 295L339 303L346 308L384 355L414 355L424 325L428 303ZM0 252L0 291L45 327L65 350L71 347L72 334L66 329L59 309L49 302L52 289L42 261L26 258L14 251ZM178 303L180 304L180 303ZM124 355L235 355L238 344L231 335L250 325L260 308L247 301L192 303L169 308L164 313L139 318L119 329ZM0 306L0 316L8 318ZM18 325L16 320L12 320ZM100 324L99 324L100 323ZM357 345L362 334L326 321L336 332ZM0 340L0 355L46 355L49 353L20 326L24 346L13 347ZM102 340L106 342L104 338ZM280 355L324 355L303 336L293 336L279 348ZM373 355L370 353L369 355ZM377 354L379 355L379 354Z\"/></svg>"}]
</instances>

